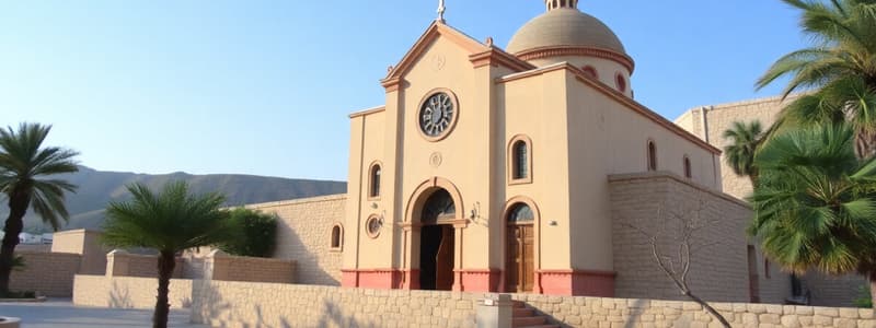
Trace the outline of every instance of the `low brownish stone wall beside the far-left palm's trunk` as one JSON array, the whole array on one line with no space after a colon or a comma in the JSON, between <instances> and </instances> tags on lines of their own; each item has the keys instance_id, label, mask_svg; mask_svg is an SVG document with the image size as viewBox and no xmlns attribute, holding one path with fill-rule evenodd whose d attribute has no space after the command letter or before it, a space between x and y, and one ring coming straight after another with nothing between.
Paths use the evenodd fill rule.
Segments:
<instances>
[{"instance_id":1,"label":"low brownish stone wall beside the far-left palm's trunk","mask_svg":"<svg viewBox=\"0 0 876 328\"><path fill-rule=\"evenodd\" d=\"M69 297L73 293L73 276L79 271L82 256L66 253L15 251L24 257L25 269L12 271L10 289L37 291L53 297Z\"/></svg>"}]
</instances>

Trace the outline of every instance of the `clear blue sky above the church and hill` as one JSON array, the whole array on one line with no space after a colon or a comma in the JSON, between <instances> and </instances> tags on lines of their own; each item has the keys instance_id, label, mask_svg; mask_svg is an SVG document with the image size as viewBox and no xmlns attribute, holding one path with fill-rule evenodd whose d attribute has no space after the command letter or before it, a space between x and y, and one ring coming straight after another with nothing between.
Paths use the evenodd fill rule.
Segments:
<instances>
[{"instance_id":1,"label":"clear blue sky above the church and hill","mask_svg":"<svg viewBox=\"0 0 876 328\"><path fill-rule=\"evenodd\" d=\"M769 96L754 80L803 47L779 0L581 0L636 61L636 99L673 119ZM345 180L347 115L435 19L433 0L0 2L0 126L106 171ZM448 0L448 23L505 46L540 0Z\"/></svg>"}]
</instances>

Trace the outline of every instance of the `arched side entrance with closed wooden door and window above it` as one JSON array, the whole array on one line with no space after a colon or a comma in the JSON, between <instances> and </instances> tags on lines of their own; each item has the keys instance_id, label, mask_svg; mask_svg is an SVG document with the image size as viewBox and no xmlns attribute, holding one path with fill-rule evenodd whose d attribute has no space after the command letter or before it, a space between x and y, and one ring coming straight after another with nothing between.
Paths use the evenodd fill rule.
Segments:
<instances>
[{"instance_id":1,"label":"arched side entrance with closed wooden door and window above it","mask_svg":"<svg viewBox=\"0 0 876 328\"><path fill-rule=\"evenodd\" d=\"M532 292L535 279L535 214L525 202L506 212L505 291Z\"/></svg>"}]
</instances>

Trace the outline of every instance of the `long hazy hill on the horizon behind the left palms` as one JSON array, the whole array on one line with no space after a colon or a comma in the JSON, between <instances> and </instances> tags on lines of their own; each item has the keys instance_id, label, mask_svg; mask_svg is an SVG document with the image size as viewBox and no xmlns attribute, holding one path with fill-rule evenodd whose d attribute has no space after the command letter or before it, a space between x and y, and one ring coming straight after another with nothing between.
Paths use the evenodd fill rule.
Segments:
<instances>
[{"instance_id":1,"label":"long hazy hill on the horizon behind the left palms","mask_svg":"<svg viewBox=\"0 0 876 328\"><path fill-rule=\"evenodd\" d=\"M194 192L219 191L228 197L228 206L278 201L307 198L323 195L343 194L347 184L342 181L288 179L254 175L211 174L192 175L171 173L162 175L136 174L126 172L103 172L80 166L79 172L59 175L58 178L79 186L76 194L67 197L67 209L70 221L61 230L96 229L103 222L103 209L110 201L125 200L130 197L125 187L131 183L142 183L150 188L159 188L168 181L188 181ZM5 201L0 207L0 218L7 218L9 208ZM30 213L25 216L26 232L50 232L51 227Z\"/></svg>"}]
</instances>

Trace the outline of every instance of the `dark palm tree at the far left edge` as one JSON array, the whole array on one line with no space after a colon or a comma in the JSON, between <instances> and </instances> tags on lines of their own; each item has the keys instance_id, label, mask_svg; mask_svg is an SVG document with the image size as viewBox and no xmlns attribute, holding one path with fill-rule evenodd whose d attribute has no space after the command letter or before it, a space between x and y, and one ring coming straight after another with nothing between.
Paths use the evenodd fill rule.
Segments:
<instances>
[{"instance_id":1,"label":"dark palm tree at the far left edge","mask_svg":"<svg viewBox=\"0 0 876 328\"><path fill-rule=\"evenodd\" d=\"M57 231L60 219L70 216L65 207L65 191L76 186L47 176L79 171L73 157L79 153L57 147L43 148L51 126L22 124L0 129L0 192L9 200L9 216L3 226L0 250L0 295L9 294L9 277L14 265L15 246L24 227L27 208Z\"/></svg>"}]
</instances>

